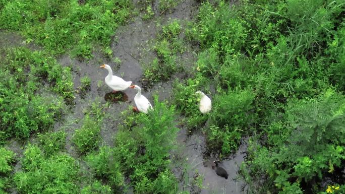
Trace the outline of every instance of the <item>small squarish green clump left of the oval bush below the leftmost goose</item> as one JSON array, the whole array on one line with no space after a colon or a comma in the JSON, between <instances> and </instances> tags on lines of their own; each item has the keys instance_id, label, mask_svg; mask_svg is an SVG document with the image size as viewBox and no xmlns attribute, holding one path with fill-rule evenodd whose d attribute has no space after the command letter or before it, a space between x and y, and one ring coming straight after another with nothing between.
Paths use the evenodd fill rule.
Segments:
<instances>
[{"instance_id":1,"label":"small squarish green clump left of the oval bush below the leftmost goose","mask_svg":"<svg viewBox=\"0 0 345 194\"><path fill-rule=\"evenodd\" d=\"M65 148L66 133L60 132L47 132L38 135L38 139L43 152L46 155L53 155L57 151Z\"/></svg>"}]
</instances>

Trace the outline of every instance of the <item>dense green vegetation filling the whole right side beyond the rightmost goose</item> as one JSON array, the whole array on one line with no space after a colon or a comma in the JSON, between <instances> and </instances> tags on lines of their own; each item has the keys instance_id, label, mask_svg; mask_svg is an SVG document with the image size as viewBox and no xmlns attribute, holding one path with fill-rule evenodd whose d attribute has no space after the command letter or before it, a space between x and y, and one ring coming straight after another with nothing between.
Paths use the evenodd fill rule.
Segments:
<instances>
[{"instance_id":1,"label":"dense green vegetation filling the whole right side beyond the rightmost goose","mask_svg":"<svg viewBox=\"0 0 345 194\"><path fill-rule=\"evenodd\" d=\"M341 192L334 174L345 168L344 8L343 1L205 2L188 25L197 73L177 81L175 103L190 123L193 92L215 88L207 145L226 157L251 136L241 171L251 193L329 193L325 177Z\"/></svg>"}]
</instances>

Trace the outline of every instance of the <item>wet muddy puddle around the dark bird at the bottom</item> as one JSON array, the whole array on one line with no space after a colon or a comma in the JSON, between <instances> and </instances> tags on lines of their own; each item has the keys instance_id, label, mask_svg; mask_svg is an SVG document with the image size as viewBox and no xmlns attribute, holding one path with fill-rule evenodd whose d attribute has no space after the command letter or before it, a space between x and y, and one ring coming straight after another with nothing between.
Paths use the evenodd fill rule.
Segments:
<instances>
[{"instance_id":1,"label":"wet muddy puddle around the dark bird at the bottom","mask_svg":"<svg viewBox=\"0 0 345 194\"><path fill-rule=\"evenodd\" d=\"M178 137L179 146L181 147L179 158L185 160L187 165L185 170L188 176L188 181L184 184L184 190L189 190L191 193L242 193L245 183L238 178L239 166L244 161L247 150L246 141L243 140L236 154L231 159L220 161L219 166L223 167L228 178L220 177L212 169L213 161L217 160L215 157L205 156L206 151L205 137L201 133L195 133L187 136L185 130L181 130ZM177 171L176 173L181 174ZM202 187L198 187L193 182L197 178L202 179Z\"/></svg>"}]
</instances>

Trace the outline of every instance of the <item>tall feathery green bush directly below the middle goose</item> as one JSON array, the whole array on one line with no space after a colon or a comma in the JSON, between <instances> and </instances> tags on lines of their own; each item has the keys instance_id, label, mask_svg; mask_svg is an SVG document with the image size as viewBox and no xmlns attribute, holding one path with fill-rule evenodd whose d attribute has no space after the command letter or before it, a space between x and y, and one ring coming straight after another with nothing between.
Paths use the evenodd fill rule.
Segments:
<instances>
[{"instance_id":1,"label":"tall feathery green bush directly below the middle goose","mask_svg":"<svg viewBox=\"0 0 345 194\"><path fill-rule=\"evenodd\" d=\"M153 110L128 113L130 118L116 136L113 157L131 178L135 193L177 192L177 180L169 170L169 150L178 132L174 108L155 97Z\"/></svg>"}]
</instances>

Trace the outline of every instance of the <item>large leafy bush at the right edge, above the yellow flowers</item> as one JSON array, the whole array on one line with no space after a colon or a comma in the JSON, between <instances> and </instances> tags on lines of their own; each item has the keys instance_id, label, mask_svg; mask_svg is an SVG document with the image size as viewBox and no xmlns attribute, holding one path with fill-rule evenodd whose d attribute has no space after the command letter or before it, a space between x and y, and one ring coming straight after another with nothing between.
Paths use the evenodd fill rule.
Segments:
<instances>
[{"instance_id":1,"label":"large leafy bush at the right edge, above the yellow flowers","mask_svg":"<svg viewBox=\"0 0 345 194\"><path fill-rule=\"evenodd\" d=\"M334 173L345 160L344 104L343 95L333 90L317 98L289 102L280 122L282 128L273 122L268 131L271 149L251 145L251 171L267 173L283 190L290 184L289 178L308 182L321 179L327 169Z\"/></svg>"}]
</instances>

